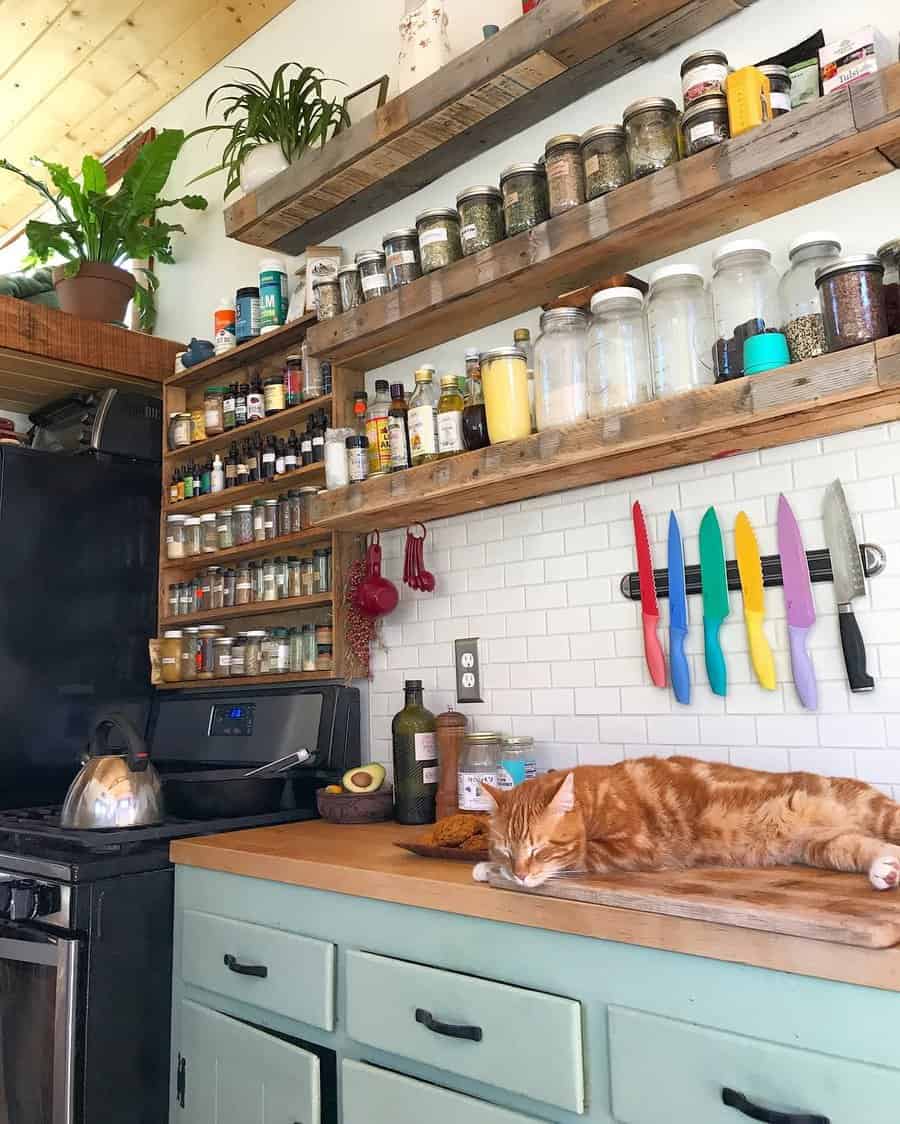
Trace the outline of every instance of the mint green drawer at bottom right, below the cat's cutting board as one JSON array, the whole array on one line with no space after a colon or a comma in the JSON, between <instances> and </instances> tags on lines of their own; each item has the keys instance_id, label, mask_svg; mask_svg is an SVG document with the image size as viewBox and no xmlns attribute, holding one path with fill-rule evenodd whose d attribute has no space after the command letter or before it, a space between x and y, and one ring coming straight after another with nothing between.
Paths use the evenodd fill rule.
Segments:
<instances>
[{"instance_id":1,"label":"mint green drawer at bottom right, below the cat's cutting board","mask_svg":"<svg viewBox=\"0 0 900 1124\"><path fill-rule=\"evenodd\" d=\"M620 1124L762 1118L722 1104L724 1088L752 1105L830 1124L897 1124L897 1070L621 1007L609 1009L609 1041L612 1115Z\"/></svg>"}]
</instances>

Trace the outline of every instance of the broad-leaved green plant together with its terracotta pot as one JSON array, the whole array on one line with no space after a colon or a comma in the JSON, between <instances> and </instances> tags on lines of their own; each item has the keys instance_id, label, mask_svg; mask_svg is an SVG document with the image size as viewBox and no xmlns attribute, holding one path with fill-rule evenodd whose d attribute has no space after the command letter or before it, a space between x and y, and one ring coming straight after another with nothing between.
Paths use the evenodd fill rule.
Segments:
<instances>
[{"instance_id":1,"label":"broad-leaved green plant together with its terracotta pot","mask_svg":"<svg viewBox=\"0 0 900 1124\"><path fill-rule=\"evenodd\" d=\"M161 193L172 164L184 144L181 129L165 129L145 144L125 173L118 190L110 191L103 165L93 156L81 163L81 182L64 164L36 157L49 172L54 193L42 180L0 160L0 169L20 176L55 211L56 221L31 219L26 224L31 264L64 260L53 270L60 308L89 320L121 320L135 299L140 326L153 327L158 278L139 266L145 283L120 268L121 262L157 259L174 262L172 234L183 227L164 223L157 211L181 203L203 210L202 196L163 199Z\"/></svg>"}]
</instances>

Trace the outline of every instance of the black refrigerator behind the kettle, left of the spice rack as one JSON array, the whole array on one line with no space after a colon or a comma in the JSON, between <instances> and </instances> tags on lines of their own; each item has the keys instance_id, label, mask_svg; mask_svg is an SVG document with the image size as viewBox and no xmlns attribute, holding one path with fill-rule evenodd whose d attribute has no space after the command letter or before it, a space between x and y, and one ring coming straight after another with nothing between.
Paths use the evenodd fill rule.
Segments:
<instances>
[{"instance_id":1,"label":"black refrigerator behind the kettle, left of the spice rack","mask_svg":"<svg viewBox=\"0 0 900 1124\"><path fill-rule=\"evenodd\" d=\"M58 803L96 714L146 726L160 465L0 445L0 808Z\"/></svg>"}]
</instances>

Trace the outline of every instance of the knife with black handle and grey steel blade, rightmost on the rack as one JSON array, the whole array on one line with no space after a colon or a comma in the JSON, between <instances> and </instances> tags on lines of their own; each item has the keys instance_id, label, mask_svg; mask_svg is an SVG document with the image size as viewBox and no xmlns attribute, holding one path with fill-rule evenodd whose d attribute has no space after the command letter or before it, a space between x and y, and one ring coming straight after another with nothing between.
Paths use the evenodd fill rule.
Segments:
<instances>
[{"instance_id":1,"label":"knife with black handle and grey steel blade, rightmost on the rack","mask_svg":"<svg viewBox=\"0 0 900 1124\"><path fill-rule=\"evenodd\" d=\"M831 554L840 646L844 650L847 681L852 691L871 691L875 680L869 674L865 665L863 634L860 632L851 605L855 597L865 595L865 574L847 497L839 480L830 483L825 492L825 541Z\"/></svg>"}]
</instances>

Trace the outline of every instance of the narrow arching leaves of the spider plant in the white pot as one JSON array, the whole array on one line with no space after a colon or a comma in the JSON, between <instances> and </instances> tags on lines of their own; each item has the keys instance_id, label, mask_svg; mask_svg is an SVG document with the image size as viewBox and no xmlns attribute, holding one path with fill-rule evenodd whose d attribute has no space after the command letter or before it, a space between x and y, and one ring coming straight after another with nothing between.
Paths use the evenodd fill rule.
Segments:
<instances>
[{"instance_id":1,"label":"narrow arching leaves of the spider plant in the white pot","mask_svg":"<svg viewBox=\"0 0 900 1124\"><path fill-rule=\"evenodd\" d=\"M289 76L292 69L297 73ZM213 101L218 99L219 105L225 106L224 123L206 125L191 133L192 137L221 130L230 134L221 161L196 176L196 180L202 180L226 171L226 199L240 187L240 165L254 148L276 143L288 163L293 163L307 148L324 145L329 135L334 136L349 124L343 100L324 97L325 83L336 80L325 78L318 66L282 63L271 82L246 66L234 66L231 70L243 71L255 81L226 82L216 87L207 98L206 114L209 116ZM225 96L226 91L230 92Z\"/></svg>"}]
</instances>

